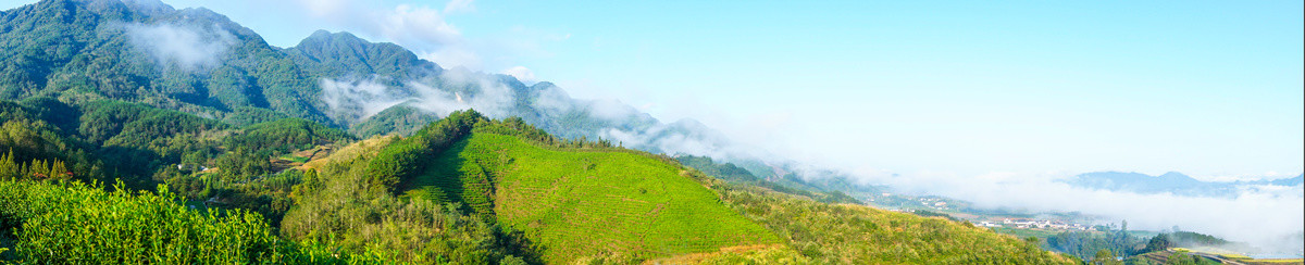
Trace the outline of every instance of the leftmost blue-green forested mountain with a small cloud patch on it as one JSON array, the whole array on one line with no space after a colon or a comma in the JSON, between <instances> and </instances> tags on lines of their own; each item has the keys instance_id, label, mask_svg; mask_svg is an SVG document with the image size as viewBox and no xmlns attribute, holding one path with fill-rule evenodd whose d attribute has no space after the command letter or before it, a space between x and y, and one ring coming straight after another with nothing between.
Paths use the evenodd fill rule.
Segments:
<instances>
[{"instance_id":1,"label":"leftmost blue-green forested mountain with a small cloud patch on it","mask_svg":"<svg viewBox=\"0 0 1305 265\"><path fill-rule=\"evenodd\" d=\"M207 9L46 0L0 18L0 95L123 99L222 117L241 107L325 119L311 77Z\"/></svg>"}]
</instances>

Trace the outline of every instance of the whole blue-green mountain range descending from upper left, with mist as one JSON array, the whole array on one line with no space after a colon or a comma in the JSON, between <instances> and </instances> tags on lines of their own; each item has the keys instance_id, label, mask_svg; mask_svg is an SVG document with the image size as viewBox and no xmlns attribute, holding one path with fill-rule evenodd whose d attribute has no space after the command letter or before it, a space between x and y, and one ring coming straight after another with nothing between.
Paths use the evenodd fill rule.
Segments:
<instances>
[{"instance_id":1,"label":"whole blue-green mountain range descending from upper left, with mist","mask_svg":"<svg viewBox=\"0 0 1305 265\"><path fill-rule=\"evenodd\" d=\"M317 31L278 48L222 14L150 0L43 0L0 14L0 99L29 97L117 99L234 123L283 115L341 129L367 124L367 134L422 125L393 119L475 107L561 137L620 137L654 153L684 140L724 144L701 124L662 124L620 102L573 99L549 82L444 69L348 33ZM390 107L410 115L377 115Z\"/></svg>"}]
</instances>

